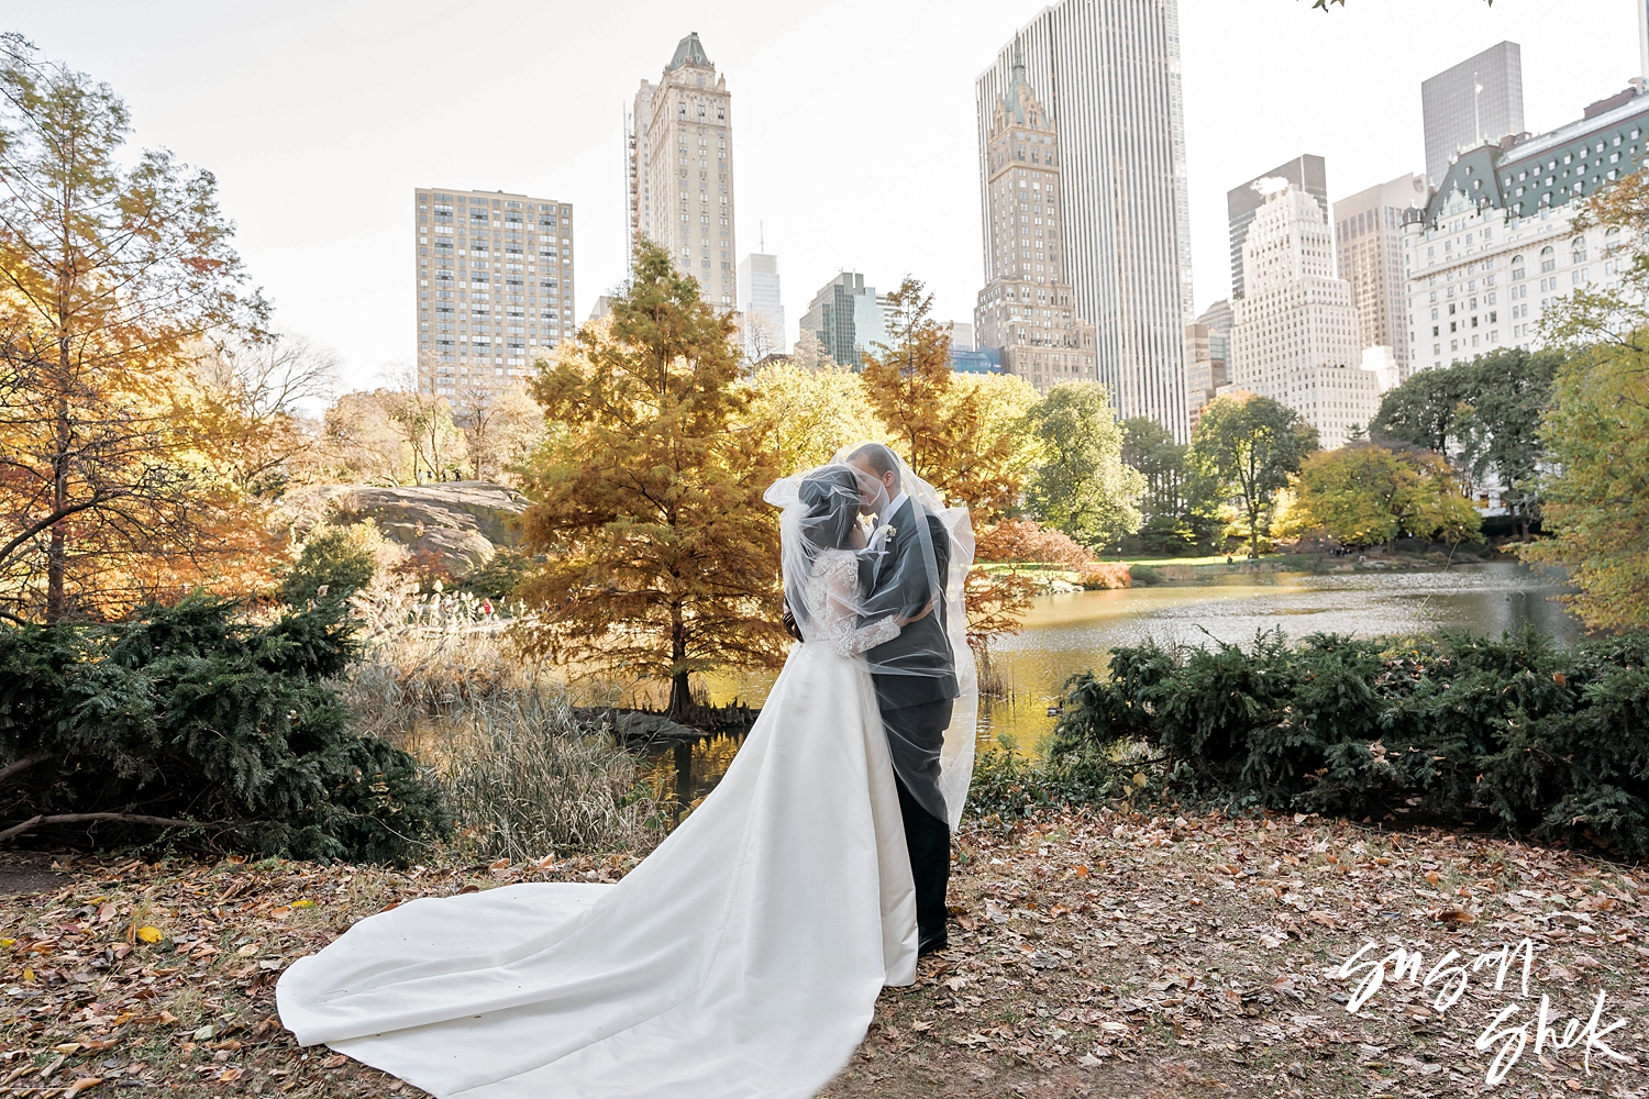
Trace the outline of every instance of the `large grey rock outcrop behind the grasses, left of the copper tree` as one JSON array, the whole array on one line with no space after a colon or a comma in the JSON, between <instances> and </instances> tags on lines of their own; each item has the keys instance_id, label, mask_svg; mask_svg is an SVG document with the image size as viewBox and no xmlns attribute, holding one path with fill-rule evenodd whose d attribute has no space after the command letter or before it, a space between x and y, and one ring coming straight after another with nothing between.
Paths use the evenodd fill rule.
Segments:
<instances>
[{"instance_id":1,"label":"large grey rock outcrop behind the grasses, left of the copper tree","mask_svg":"<svg viewBox=\"0 0 1649 1099\"><path fill-rule=\"evenodd\" d=\"M285 494L297 512L300 535L317 522L351 526L371 519L378 531L414 557L439 560L463 577L493 559L500 545L514 545L514 522L526 498L488 481L442 481L379 488L376 484L308 484Z\"/></svg>"}]
</instances>

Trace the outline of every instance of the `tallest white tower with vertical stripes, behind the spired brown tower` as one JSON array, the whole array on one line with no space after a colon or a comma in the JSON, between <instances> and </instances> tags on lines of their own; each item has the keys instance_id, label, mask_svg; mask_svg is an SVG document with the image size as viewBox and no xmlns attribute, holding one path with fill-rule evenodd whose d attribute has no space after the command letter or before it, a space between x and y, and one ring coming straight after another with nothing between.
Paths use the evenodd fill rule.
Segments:
<instances>
[{"instance_id":1,"label":"tallest white tower with vertical stripes, behind the spired brown tower","mask_svg":"<svg viewBox=\"0 0 1649 1099\"><path fill-rule=\"evenodd\" d=\"M1014 74L1019 64L1022 77ZM1032 285L1050 300L1036 308L1064 313L1045 282L1050 272L1034 267L1036 249L1021 247L1016 236L1003 239L993 219L991 130L1016 81L1036 89L1059 125L1062 171L1016 163L1012 189L1021 178L1045 185L1059 176L1064 224L1054 241L1070 285L1069 311L1095 330L1090 377L1110 387L1120 415L1149 415L1184 440L1184 325L1192 306L1179 3L1059 0L1026 23L975 82L986 282L1041 275L1044 282ZM1019 213L1036 226L1036 209ZM1044 249L1044 267L1050 262Z\"/></svg>"}]
</instances>

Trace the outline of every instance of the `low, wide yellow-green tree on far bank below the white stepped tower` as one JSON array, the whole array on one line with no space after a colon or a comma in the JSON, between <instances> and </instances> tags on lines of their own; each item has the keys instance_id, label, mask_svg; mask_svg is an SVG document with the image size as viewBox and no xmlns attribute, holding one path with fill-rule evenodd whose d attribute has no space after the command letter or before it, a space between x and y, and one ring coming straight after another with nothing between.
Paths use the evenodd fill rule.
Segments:
<instances>
[{"instance_id":1,"label":"low, wide yellow-green tree on far bank below the white stepped tower","mask_svg":"<svg viewBox=\"0 0 1649 1099\"><path fill-rule=\"evenodd\" d=\"M1478 509L1443 455L1354 443L1306 455L1291 524L1347 545L1412 537L1458 544L1479 531Z\"/></svg>"}]
</instances>

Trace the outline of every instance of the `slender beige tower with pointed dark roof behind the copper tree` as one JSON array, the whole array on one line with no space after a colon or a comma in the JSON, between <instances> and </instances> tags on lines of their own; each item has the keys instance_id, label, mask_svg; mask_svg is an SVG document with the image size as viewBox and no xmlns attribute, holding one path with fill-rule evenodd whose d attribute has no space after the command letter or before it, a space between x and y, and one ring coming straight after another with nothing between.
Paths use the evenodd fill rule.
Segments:
<instances>
[{"instance_id":1,"label":"slender beige tower with pointed dark roof behind the copper tree","mask_svg":"<svg viewBox=\"0 0 1649 1099\"><path fill-rule=\"evenodd\" d=\"M632 236L669 252L711 305L737 303L732 101L694 31L658 84L641 81L627 135Z\"/></svg>"}]
</instances>

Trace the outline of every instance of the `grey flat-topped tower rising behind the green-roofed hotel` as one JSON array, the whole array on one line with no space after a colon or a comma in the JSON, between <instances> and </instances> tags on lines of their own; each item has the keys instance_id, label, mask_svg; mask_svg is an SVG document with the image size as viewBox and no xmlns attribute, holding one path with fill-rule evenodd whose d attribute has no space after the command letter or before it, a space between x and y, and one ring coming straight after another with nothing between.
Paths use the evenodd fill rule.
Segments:
<instances>
[{"instance_id":1,"label":"grey flat-topped tower rising behind the green-roofed hotel","mask_svg":"<svg viewBox=\"0 0 1649 1099\"><path fill-rule=\"evenodd\" d=\"M1441 186L1454 153L1524 132L1524 61L1514 41L1489 46L1420 84L1426 180Z\"/></svg>"}]
</instances>

